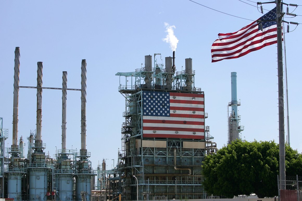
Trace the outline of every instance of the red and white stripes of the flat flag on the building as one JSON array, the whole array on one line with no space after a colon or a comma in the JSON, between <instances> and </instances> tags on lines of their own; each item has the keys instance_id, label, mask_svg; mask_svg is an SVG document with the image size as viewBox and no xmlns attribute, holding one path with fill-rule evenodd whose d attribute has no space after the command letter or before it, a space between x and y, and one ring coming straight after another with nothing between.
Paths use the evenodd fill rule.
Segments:
<instances>
[{"instance_id":1,"label":"red and white stripes of the flat flag on the building","mask_svg":"<svg viewBox=\"0 0 302 201\"><path fill-rule=\"evenodd\" d=\"M143 137L204 139L204 94L171 92L170 116L143 116Z\"/></svg>"}]
</instances>

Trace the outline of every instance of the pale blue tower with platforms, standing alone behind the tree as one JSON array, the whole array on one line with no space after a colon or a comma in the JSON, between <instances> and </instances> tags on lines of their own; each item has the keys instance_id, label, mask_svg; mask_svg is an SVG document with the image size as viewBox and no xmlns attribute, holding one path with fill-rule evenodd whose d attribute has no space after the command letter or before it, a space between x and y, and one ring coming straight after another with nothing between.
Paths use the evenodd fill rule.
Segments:
<instances>
[{"instance_id":1,"label":"pale blue tower with platforms, standing alone behind the tree","mask_svg":"<svg viewBox=\"0 0 302 201\"><path fill-rule=\"evenodd\" d=\"M238 106L240 101L237 101L237 72L231 72L231 102L228 104L228 108L231 107L231 111L228 109L229 126L228 126L228 142L235 141L236 139L242 140L240 132L244 130L244 126L240 125L241 117L238 115Z\"/></svg>"}]
</instances>

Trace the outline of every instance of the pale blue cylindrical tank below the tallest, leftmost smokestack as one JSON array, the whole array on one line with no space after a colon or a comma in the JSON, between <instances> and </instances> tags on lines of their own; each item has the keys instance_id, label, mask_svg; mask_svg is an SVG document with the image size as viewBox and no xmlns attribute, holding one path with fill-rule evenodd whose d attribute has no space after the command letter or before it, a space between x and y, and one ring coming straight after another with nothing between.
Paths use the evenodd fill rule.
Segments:
<instances>
[{"instance_id":1,"label":"pale blue cylindrical tank below the tallest, leftmost smokestack","mask_svg":"<svg viewBox=\"0 0 302 201\"><path fill-rule=\"evenodd\" d=\"M22 200L22 190L21 190L21 173L11 172L7 174L7 196L8 198L14 198L14 200Z\"/></svg>"}]
</instances>

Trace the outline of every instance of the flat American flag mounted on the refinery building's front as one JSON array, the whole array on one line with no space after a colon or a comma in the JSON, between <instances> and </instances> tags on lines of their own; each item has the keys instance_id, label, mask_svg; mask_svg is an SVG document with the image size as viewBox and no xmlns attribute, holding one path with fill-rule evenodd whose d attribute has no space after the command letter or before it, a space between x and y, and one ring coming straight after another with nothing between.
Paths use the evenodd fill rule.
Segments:
<instances>
[{"instance_id":1,"label":"flat American flag mounted on the refinery building's front","mask_svg":"<svg viewBox=\"0 0 302 201\"><path fill-rule=\"evenodd\" d=\"M143 137L204 139L204 94L143 91Z\"/></svg>"}]
</instances>

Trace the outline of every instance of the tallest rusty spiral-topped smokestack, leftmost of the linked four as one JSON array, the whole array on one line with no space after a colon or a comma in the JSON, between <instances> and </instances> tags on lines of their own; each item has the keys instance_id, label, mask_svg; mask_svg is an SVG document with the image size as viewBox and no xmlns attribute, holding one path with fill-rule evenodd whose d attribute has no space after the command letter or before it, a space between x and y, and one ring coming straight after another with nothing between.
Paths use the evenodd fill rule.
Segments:
<instances>
[{"instance_id":1,"label":"tallest rusty spiral-topped smokestack, leftmost of the linked four","mask_svg":"<svg viewBox=\"0 0 302 201\"><path fill-rule=\"evenodd\" d=\"M18 148L18 102L19 102L20 47L15 49L14 66L14 101L13 101L13 142L12 151ZM17 155L15 155L17 156Z\"/></svg>"}]
</instances>

